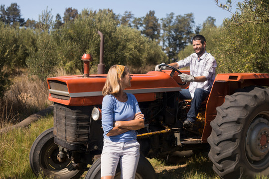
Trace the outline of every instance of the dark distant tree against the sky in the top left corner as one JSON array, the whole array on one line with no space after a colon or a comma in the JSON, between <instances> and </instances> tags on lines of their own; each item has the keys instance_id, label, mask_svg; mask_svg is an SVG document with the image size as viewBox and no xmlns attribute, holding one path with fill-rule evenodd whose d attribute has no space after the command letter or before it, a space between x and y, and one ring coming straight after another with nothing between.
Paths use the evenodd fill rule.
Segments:
<instances>
[{"instance_id":1,"label":"dark distant tree against the sky in the top left corner","mask_svg":"<svg viewBox=\"0 0 269 179\"><path fill-rule=\"evenodd\" d=\"M11 3L6 9L4 5L1 5L0 20L12 26L22 26L24 24L24 18L21 18L19 5L17 3Z\"/></svg>"}]
</instances>

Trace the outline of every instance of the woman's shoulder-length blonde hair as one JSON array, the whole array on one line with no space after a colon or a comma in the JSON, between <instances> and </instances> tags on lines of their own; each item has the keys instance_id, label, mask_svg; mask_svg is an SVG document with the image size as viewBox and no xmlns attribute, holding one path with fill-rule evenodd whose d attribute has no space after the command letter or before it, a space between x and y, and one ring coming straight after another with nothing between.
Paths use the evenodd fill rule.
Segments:
<instances>
[{"instance_id":1,"label":"woman's shoulder-length blonde hair","mask_svg":"<svg viewBox=\"0 0 269 179\"><path fill-rule=\"evenodd\" d=\"M121 75L121 78L123 78L126 75L126 69L127 68L125 67L123 74ZM117 65L113 65L109 69L107 80L103 88L102 94L104 96L108 94L117 95L121 90L121 84L119 80L120 79L117 74Z\"/></svg>"}]
</instances>

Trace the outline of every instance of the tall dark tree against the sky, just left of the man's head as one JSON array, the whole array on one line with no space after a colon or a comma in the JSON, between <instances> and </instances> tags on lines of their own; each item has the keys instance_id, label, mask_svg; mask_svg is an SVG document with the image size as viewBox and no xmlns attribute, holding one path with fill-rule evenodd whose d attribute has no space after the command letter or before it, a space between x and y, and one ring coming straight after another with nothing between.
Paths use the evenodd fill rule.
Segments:
<instances>
[{"instance_id":1,"label":"tall dark tree against the sky, just left of the man's head","mask_svg":"<svg viewBox=\"0 0 269 179\"><path fill-rule=\"evenodd\" d=\"M176 61L179 51L191 42L194 17L192 13L174 16L172 12L161 21L163 50L168 56L168 63L170 63L170 60Z\"/></svg>"}]
</instances>

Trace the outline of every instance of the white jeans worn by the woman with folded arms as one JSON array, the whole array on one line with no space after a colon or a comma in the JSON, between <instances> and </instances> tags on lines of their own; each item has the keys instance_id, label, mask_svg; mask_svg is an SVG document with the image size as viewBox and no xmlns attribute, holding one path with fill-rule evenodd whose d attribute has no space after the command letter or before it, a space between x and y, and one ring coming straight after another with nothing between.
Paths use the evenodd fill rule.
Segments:
<instances>
[{"instance_id":1,"label":"white jeans worn by the woman with folded arms","mask_svg":"<svg viewBox=\"0 0 269 179\"><path fill-rule=\"evenodd\" d=\"M134 179L139 161L140 144L136 140L112 142L104 139L101 154L101 177L115 176L118 163L121 165L121 179Z\"/></svg>"}]
</instances>

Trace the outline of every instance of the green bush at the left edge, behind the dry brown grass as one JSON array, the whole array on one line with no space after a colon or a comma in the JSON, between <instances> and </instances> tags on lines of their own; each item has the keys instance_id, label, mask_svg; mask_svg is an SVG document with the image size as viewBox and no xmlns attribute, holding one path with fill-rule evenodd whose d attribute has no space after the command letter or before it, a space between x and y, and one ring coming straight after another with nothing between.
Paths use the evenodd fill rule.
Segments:
<instances>
[{"instance_id":1,"label":"green bush at the left edge, behind the dry brown grass","mask_svg":"<svg viewBox=\"0 0 269 179\"><path fill-rule=\"evenodd\" d=\"M29 49L35 44L31 29L12 27L0 22L0 98L11 84L8 76L25 67Z\"/></svg>"}]
</instances>

